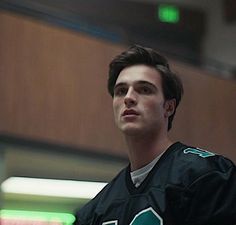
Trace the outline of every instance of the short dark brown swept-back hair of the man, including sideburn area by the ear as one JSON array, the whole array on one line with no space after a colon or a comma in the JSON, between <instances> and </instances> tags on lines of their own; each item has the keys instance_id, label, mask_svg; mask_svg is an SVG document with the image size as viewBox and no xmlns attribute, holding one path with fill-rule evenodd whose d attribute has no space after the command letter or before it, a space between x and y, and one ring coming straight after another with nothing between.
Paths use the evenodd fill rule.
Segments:
<instances>
[{"instance_id":1,"label":"short dark brown swept-back hair of the man, including sideburn area by the ear","mask_svg":"<svg viewBox=\"0 0 236 225\"><path fill-rule=\"evenodd\" d=\"M108 92L112 97L114 96L114 86L123 69L140 64L155 68L161 75L165 100L176 100L174 113L168 118L168 130L170 130L176 108L184 92L183 84L180 78L170 70L167 59L155 50L140 45L133 45L128 50L117 55L109 65Z\"/></svg>"}]
</instances>

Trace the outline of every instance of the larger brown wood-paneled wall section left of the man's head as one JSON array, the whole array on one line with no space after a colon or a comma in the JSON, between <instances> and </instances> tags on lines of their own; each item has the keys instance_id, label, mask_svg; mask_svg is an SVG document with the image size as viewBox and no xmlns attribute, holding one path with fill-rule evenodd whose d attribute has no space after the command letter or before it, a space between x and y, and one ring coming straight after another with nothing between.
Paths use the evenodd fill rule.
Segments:
<instances>
[{"instance_id":1,"label":"larger brown wood-paneled wall section left of the man's head","mask_svg":"<svg viewBox=\"0 0 236 225\"><path fill-rule=\"evenodd\" d=\"M0 32L0 131L119 154L106 79L121 47L6 13Z\"/></svg>"}]
</instances>

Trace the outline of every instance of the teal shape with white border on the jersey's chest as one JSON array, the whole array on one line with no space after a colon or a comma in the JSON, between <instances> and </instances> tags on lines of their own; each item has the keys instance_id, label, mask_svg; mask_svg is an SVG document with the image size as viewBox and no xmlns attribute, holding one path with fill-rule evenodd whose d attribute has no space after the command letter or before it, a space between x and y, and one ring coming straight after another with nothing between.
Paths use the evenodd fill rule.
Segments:
<instances>
[{"instance_id":1,"label":"teal shape with white border on the jersey's chest","mask_svg":"<svg viewBox=\"0 0 236 225\"><path fill-rule=\"evenodd\" d=\"M147 208L139 212L130 225L162 225L162 218L153 210L153 208Z\"/></svg>"}]
</instances>

